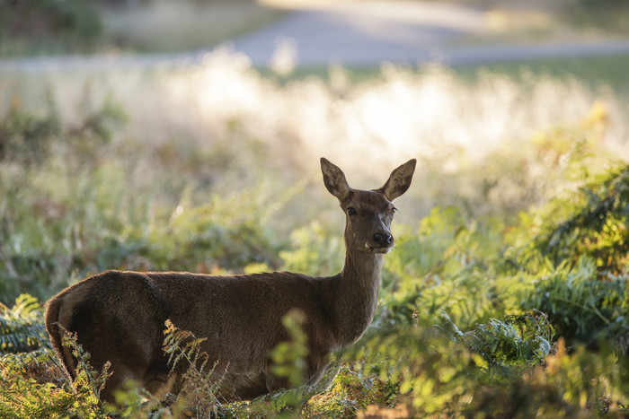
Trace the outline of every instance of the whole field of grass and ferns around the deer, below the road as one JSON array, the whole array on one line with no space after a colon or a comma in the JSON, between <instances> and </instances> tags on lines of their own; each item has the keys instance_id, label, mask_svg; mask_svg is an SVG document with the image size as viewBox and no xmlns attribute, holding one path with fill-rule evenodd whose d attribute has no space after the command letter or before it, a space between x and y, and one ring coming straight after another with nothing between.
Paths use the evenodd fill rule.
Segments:
<instances>
[{"instance_id":1,"label":"whole field of grass and ferns around the deer, below the road","mask_svg":"<svg viewBox=\"0 0 629 419\"><path fill-rule=\"evenodd\" d=\"M0 415L624 417L626 86L549 68L286 78L219 51L180 70L4 74ZM102 406L106 377L78 348L70 385L41 304L85 276L337 273L321 156L356 188L418 159L376 319L327 386L227 404L191 368L167 403L130 388Z\"/></svg>"}]
</instances>

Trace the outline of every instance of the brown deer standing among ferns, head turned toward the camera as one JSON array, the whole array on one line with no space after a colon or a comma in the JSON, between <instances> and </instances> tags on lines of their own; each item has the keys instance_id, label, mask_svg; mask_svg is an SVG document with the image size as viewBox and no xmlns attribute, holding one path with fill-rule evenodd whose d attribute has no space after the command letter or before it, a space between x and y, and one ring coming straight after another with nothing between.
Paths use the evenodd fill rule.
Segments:
<instances>
[{"instance_id":1,"label":"brown deer standing among ferns, head turned toward the camera","mask_svg":"<svg viewBox=\"0 0 629 419\"><path fill-rule=\"evenodd\" d=\"M152 393L174 382L171 390L178 391L182 371L171 371L162 347L164 322L171 319L176 327L206 338L201 350L217 362L220 394L249 399L288 387L288 380L271 372L270 350L288 340L282 318L298 310L309 348L304 379L313 385L327 367L328 355L356 342L374 317L383 255L394 246L392 201L410 187L415 162L393 170L382 188L358 190L350 188L341 169L321 159L325 187L346 214L340 274L107 271L48 301L46 328L59 359L74 379L76 360L62 337L75 332L93 367L100 370L111 362L103 400L111 400L126 380Z\"/></svg>"}]
</instances>

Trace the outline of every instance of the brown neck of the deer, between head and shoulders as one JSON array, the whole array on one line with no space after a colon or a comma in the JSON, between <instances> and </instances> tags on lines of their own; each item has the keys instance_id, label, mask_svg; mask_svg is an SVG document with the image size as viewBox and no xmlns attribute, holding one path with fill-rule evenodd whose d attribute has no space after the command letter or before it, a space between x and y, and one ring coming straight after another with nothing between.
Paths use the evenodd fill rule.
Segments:
<instances>
[{"instance_id":1,"label":"brown neck of the deer, between head and shoulders","mask_svg":"<svg viewBox=\"0 0 629 419\"><path fill-rule=\"evenodd\" d=\"M350 251L334 296L340 345L356 342L374 318L383 255Z\"/></svg>"}]
</instances>

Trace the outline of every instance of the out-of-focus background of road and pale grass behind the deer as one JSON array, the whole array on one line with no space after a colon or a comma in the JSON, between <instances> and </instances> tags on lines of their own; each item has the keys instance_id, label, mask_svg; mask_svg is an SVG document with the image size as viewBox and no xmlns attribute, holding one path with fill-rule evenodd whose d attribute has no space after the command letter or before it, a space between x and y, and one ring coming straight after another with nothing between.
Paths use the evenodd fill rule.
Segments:
<instances>
[{"instance_id":1,"label":"out-of-focus background of road and pale grass behind the deer","mask_svg":"<svg viewBox=\"0 0 629 419\"><path fill-rule=\"evenodd\" d=\"M596 174L629 153L621 0L3 1L0 56L7 301L173 268L144 246L187 210L272 225L266 256L208 242L187 269L270 263L291 231L342 223L321 156L356 188L417 158L414 225L440 205L514 220L574 187L569 161ZM182 240L205 234L194 217Z\"/></svg>"}]
</instances>

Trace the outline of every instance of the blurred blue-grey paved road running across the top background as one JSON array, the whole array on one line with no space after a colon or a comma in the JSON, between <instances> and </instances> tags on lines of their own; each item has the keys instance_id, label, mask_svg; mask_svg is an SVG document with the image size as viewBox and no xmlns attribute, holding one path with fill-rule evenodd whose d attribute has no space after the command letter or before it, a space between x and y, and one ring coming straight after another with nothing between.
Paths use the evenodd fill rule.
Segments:
<instances>
[{"instance_id":1,"label":"blurred blue-grey paved road running across the top background","mask_svg":"<svg viewBox=\"0 0 629 419\"><path fill-rule=\"evenodd\" d=\"M316 2L315 2L316 3ZM629 39L453 47L452 41L485 30L481 11L465 5L397 0L321 3L304 6L270 26L228 44L257 66L270 65L284 42L288 57L301 66L393 63L482 65L545 57L629 53ZM33 57L0 60L1 71L42 69L186 66L212 49L181 54L92 57Z\"/></svg>"}]
</instances>

